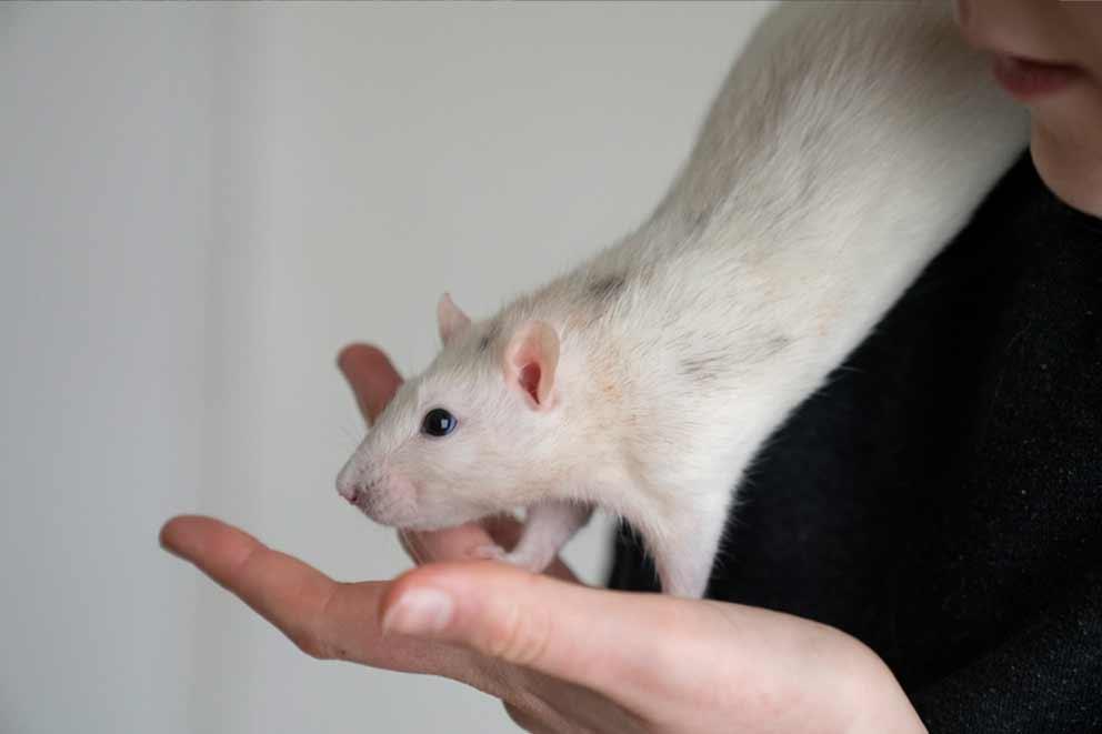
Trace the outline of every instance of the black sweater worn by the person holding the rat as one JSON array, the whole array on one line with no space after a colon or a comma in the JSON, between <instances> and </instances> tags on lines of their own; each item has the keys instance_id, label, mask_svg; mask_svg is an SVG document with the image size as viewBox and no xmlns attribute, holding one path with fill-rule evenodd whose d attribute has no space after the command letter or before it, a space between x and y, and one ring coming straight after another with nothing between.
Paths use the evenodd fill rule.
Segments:
<instances>
[{"instance_id":1,"label":"black sweater worn by the person holding the rat","mask_svg":"<svg viewBox=\"0 0 1102 734\"><path fill-rule=\"evenodd\" d=\"M1102 220L1025 155L758 458L709 596L834 625L931 732L1102 731ZM654 589L617 541L611 585Z\"/></svg>"}]
</instances>

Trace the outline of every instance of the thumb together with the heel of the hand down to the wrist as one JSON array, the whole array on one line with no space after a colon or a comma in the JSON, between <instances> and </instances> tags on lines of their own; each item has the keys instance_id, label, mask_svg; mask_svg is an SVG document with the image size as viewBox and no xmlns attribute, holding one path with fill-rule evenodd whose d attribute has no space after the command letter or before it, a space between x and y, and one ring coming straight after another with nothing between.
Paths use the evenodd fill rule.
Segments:
<instances>
[{"instance_id":1,"label":"thumb together with the heel of the hand down to the wrist","mask_svg":"<svg viewBox=\"0 0 1102 734\"><path fill-rule=\"evenodd\" d=\"M788 732L809 721L817 731L856 731L855 722L884 718L924 731L868 647L779 612L591 589L485 561L410 571L378 609L384 632L573 683L648 721L730 713L747 731ZM702 721L695 731L730 728Z\"/></svg>"}]
</instances>

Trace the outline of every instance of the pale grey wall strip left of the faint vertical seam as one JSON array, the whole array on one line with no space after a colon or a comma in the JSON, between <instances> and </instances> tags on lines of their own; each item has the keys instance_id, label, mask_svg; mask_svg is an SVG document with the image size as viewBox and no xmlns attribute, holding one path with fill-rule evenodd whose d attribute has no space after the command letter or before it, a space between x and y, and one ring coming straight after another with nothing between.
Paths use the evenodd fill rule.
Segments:
<instances>
[{"instance_id":1,"label":"pale grey wall strip left of the faint vertical seam","mask_svg":"<svg viewBox=\"0 0 1102 734\"><path fill-rule=\"evenodd\" d=\"M183 731L211 18L0 6L0 731ZM179 722L173 726L171 723Z\"/></svg>"}]
</instances>

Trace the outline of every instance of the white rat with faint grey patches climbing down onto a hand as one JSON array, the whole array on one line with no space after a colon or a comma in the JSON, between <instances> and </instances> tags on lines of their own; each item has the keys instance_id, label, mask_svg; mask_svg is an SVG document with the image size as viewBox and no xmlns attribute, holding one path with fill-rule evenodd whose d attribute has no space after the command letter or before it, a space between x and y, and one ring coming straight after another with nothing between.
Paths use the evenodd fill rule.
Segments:
<instances>
[{"instance_id":1,"label":"white rat with faint grey patches climbing down onto a hand","mask_svg":"<svg viewBox=\"0 0 1102 734\"><path fill-rule=\"evenodd\" d=\"M339 492L405 529L527 507L475 554L533 571L599 506L702 595L755 452L1026 144L948 4L771 13L645 224L492 319L440 300Z\"/></svg>"}]
</instances>

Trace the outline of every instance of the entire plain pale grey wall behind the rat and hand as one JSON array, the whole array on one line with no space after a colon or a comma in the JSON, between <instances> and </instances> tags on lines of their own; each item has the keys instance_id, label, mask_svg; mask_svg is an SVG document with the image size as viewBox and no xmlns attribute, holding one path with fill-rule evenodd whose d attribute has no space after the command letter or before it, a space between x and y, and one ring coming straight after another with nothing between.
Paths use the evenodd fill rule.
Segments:
<instances>
[{"instance_id":1,"label":"entire plain pale grey wall behind the rat and hand","mask_svg":"<svg viewBox=\"0 0 1102 734\"><path fill-rule=\"evenodd\" d=\"M0 6L0 731L513 731L305 657L157 531L408 567L333 490L338 349L417 370L441 291L484 315L625 233L765 10Z\"/></svg>"}]
</instances>

